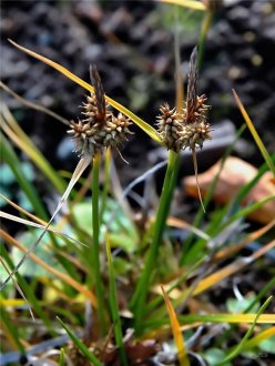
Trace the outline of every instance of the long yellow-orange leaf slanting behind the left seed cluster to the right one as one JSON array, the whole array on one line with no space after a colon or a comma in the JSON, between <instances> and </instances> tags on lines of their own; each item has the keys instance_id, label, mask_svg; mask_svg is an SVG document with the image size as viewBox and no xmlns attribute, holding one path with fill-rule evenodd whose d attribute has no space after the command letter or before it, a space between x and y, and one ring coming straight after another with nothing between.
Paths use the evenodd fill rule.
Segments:
<instances>
[{"instance_id":1,"label":"long yellow-orange leaf slanting behind the left seed cluster to the right one","mask_svg":"<svg viewBox=\"0 0 275 366\"><path fill-rule=\"evenodd\" d=\"M13 42L12 40L9 40L11 42L11 44L13 44L14 47L17 47L19 50L28 53L29 55L33 57L34 59L38 59L42 62L44 62L45 64L50 65L51 68L58 70L59 72L61 72L62 74L64 74L68 79L71 79L72 81L74 81L77 84L81 85L82 88L89 90L91 93L94 93L94 88L92 85L90 85L89 83L86 83L84 80L80 79L79 77L74 75L72 72L70 72L68 69L65 69L64 67L62 67L61 64L37 53L33 52L22 45L19 45L18 43ZM105 95L105 100L106 102L109 102L113 108L115 108L116 110L119 110L120 112L124 113L125 115L128 115L135 124L138 124L145 133L147 133L150 135L151 139L155 140L156 142L161 143L161 139L159 138L156 131L154 128L152 128L150 124L147 124L145 121L143 121L142 119L140 119L138 115L135 115L133 112L131 112L130 110L128 110L125 106L123 106L122 104L115 102L113 99L111 99L110 96Z\"/></svg>"}]
</instances>

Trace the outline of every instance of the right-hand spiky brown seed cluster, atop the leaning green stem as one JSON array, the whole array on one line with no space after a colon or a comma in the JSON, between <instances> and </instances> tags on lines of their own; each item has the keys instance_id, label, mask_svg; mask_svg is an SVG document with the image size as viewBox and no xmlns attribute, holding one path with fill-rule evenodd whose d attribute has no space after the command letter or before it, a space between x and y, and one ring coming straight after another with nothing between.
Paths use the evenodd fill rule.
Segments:
<instances>
[{"instance_id":1,"label":"right-hand spiky brown seed cluster, atop the leaning green stem","mask_svg":"<svg viewBox=\"0 0 275 366\"><path fill-rule=\"evenodd\" d=\"M175 108L170 109L169 104L161 106L156 123L159 134L169 150L202 149L205 140L212 140L210 124L206 123L211 106L204 104L205 101L205 95L196 96L192 113L187 108L176 113Z\"/></svg>"}]
</instances>

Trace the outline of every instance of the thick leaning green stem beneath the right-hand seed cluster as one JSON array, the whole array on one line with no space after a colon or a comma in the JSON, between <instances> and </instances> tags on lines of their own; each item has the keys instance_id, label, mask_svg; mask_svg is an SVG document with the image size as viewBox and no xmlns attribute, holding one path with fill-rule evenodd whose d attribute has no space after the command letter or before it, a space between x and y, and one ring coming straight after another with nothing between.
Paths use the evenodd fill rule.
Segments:
<instances>
[{"instance_id":1,"label":"thick leaning green stem beneath the right-hand seed cluster","mask_svg":"<svg viewBox=\"0 0 275 366\"><path fill-rule=\"evenodd\" d=\"M139 279L135 293L131 301L131 307L135 314L135 329L139 334L142 329L142 319L144 316L145 301L149 292L149 287L152 281L152 273L155 268L155 262L157 258L157 252L160 244L162 243L163 233L165 230L165 222L169 215L170 204L174 191L176 180L176 166L179 161L179 154L172 150L169 152L169 163L160 197L160 204L154 223L153 241L146 255L145 265L141 277Z\"/></svg>"}]
</instances>

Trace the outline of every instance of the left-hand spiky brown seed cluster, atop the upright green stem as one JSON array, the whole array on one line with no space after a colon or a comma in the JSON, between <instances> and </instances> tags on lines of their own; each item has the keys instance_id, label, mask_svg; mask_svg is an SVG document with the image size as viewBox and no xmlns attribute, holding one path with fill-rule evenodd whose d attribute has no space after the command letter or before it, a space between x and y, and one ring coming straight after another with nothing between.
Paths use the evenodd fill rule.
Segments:
<instances>
[{"instance_id":1,"label":"left-hand spiky brown seed cluster, atop the upright green stem","mask_svg":"<svg viewBox=\"0 0 275 366\"><path fill-rule=\"evenodd\" d=\"M128 135L132 134L129 126L132 124L122 113L118 116L110 111L110 106L104 105L104 113L99 113L99 105L95 95L86 96L86 103L82 104L81 119L75 123L71 122L72 140L75 142L75 152L80 152L80 156L90 154L94 155L103 149L118 146L121 142L128 140Z\"/></svg>"}]
</instances>

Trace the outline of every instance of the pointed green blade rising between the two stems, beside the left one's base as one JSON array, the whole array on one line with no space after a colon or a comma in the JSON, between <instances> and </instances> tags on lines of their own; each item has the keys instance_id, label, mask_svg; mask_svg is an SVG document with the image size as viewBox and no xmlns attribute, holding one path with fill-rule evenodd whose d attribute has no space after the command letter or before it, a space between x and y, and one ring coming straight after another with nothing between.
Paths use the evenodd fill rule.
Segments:
<instances>
[{"instance_id":1,"label":"pointed green blade rising between the two stems, beside the left one's base","mask_svg":"<svg viewBox=\"0 0 275 366\"><path fill-rule=\"evenodd\" d=\"M111 254L111 244L108 234L106 234L106 257L109 264L110 308L114 325L114 337L115 337L116 347L119 348L121 365L126 366L128 360L123 344L123 335L122 335L121 319L120 319L119 305L118 305L118 295L115 289L115 273L114 273L112 254Z\"/></svg>"}]
</instances>

